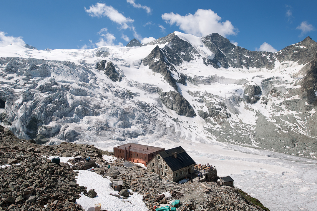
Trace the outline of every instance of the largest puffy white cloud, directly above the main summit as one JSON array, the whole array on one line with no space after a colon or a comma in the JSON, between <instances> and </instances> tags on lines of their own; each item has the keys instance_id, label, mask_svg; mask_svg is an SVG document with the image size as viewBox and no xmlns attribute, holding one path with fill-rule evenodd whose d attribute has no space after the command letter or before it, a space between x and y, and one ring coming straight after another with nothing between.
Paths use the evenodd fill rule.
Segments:
<instances>
[{"instance_id":1,"label":"largest puffy white cloud, directly above the main summit","mask_svg":"<svg viewBox=\"0 0 317 211\"><path fill-rule=\"evenodd\" d=\"M176 24L185 33L196 36L206 36L216 32L225 37L238 32L230 21L220 22L221 17L211 9L197 9L194 15L189 13L186 16L173 12L164 13L162 19L171 25Z\"/></svg>"}]
</instances>

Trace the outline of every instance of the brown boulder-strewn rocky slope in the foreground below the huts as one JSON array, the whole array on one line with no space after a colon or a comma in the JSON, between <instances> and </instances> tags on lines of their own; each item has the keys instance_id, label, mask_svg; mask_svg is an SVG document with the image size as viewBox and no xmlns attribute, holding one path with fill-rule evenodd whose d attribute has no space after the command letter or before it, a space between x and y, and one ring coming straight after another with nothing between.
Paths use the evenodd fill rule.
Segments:
<instances>
[{"instance_id":1,"label":"brown boulder-strewn rocky slope in the foreground below the huts","mask_svg":"<svg viewBox=\"0 0 317 211\"><path fill-rule=\"evenodd\" d=\"M1 126L0 131L0 210L83 210L75 203L79 194L83 192L94 198L98 196L98 192L76 184L76 170L91 167L95 167L96 174L112 177L112 181L122 179L124 190L118 196L124 199L129 196L126 189L132 189L143 195L143 201L150 210L154 206L170 205L169 202L175 198L181 201L178 210L182 211L268 210L238 188L220 187L215 182L204 183L208 186L206 188L196 181L183 184L161 181L158 175L122 159L109 163L111 167L108 169L108 162L101 157L102 154L111 153L100 151L92 145L62 142L56 146L41 146L19 140L11 131ZM72 166L66 163L54 164L46 158L58 155L79 157L77 160L69 160ZM83 164L78 160L81 156L91 156L92 159ZM160 194L166 192L171 196L155 201Z\"/></svg>"}]
</instances>

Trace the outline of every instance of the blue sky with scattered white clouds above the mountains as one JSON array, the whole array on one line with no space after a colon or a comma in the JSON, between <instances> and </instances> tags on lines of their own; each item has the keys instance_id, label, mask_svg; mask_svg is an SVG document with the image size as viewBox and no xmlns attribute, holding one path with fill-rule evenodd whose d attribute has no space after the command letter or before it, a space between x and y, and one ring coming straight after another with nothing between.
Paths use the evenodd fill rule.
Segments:
<instances>
[{"instance_id":1,"label":"blue sky with scattered white clouds above the mountains","mask_svg":"<svg viewBox=\"0 0 317 211\"><path fill-rule=\"evenodd\" d=\"M276 51L317 40L316 1L2 1L0 47L38 49L125 46L180 31L213 32L248 50Z\"/></svg>"}]
</instances>

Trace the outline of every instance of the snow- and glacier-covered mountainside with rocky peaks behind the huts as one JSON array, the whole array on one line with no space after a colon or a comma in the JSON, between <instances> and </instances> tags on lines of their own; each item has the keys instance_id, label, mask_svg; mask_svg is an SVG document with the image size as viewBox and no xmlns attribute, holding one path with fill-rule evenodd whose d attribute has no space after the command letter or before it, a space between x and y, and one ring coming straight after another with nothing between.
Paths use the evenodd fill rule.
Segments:
<instances>
[{"instance_id":1,"label":"snow- and glacier-covered mountainside with rocky peaks behind the huts","mask_svg":"<svg viewBox=\"0 0 317 211\"><path fill-rule=\"evenodd\" d=\"M127 46L1 47L1 124L38 143L221 141L316 158L317 44L309 37L276 53L217 33Z\"/></svg>"}]
</instances>

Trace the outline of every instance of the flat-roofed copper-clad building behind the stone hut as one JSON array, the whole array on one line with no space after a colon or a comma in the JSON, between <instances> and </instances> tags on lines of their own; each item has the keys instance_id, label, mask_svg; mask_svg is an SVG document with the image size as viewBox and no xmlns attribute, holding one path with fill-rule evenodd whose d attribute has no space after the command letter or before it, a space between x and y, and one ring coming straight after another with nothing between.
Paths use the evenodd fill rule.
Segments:
<instances>
[{"instance_id":1,"label":"flat-roofed copper-clad building behind the stone hut","mask_svg":"<svg viewBox=\"0 0 317 211\"><path fill-rule=\"evenodd\" d=\"M113 147L113 156L134 163L142 163L146 166L149 160L162 151L165 151L165 149L161 147L128 143Z\"/></svg>"}]
</instances>

